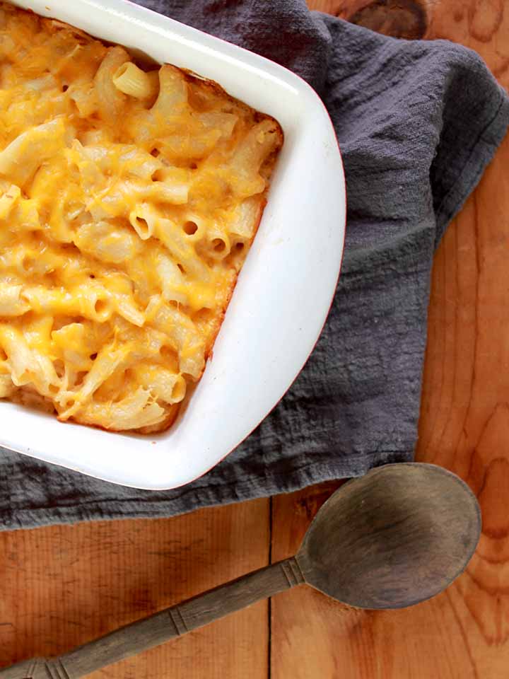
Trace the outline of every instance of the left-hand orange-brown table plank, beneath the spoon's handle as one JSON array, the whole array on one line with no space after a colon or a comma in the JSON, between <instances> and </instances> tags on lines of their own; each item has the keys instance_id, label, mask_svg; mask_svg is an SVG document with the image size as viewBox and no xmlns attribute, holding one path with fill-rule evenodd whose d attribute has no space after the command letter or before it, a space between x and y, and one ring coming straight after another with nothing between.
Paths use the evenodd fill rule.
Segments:
<instances>
[{"instance_id":1,"label":"left-hand orange-brown table plank, beneath the spoon's handle","mask_svg":"<svg viewBox=\"0 0 509 679\"><path fill-rule=\"evenodd\" d=\"M268 562L268 500L0 533L0 667L62 654ZM90 676L266 679L268 641L262 602Z\"/></svg>"}]
</instances>

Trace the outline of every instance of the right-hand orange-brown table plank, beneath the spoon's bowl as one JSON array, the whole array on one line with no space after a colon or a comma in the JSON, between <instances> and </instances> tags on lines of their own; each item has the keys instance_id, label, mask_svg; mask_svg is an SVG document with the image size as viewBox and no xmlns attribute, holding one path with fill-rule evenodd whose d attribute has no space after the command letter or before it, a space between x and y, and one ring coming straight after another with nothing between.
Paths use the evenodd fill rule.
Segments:
<instances>
[{"instance_id":1,"label":"right-hand orange-brown table plank, beneath the spoon's bowl","mask_svg":"<svg viewBox=\"0 0 509 679\"><path fill-rule=\"evenodd\" d=\"M385 33L416 30L408 13L419 13L417 3L396 0L310 5L344 18L356 15L358 23ZM509 16L503 8L503 0L430 0L424 33L473 47L507 87ZM396 18L390 14L395 10ZM506 139L435 257L417 451L419 460L454 470L477 493L484 514L479 549L454 586L408 610L351 610L304 588L274 598L273 679L508 675L508 167ZM332 489L274 499L273 559L296 550Z\"/></svg>"}]
</instances>

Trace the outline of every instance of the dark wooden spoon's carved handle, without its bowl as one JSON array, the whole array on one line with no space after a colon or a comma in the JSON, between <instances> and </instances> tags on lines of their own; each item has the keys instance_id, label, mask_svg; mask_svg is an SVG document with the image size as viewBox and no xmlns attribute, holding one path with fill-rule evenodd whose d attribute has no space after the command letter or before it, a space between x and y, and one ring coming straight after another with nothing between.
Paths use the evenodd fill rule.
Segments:
<instances>
[{"instance_id":1,"label":"dark wooden spoon's carved handle, without its bowl","mask_svg":"<svg viewBox=\"0 0 509 679\"><path fill-rule=\"evenodd\" d=\"M29 665L34 679L78 679L303 582L296 557L291 557L121 627L59 658L25 661L7 668L0 671L0 679L29 676Z\"/></svg>"}]
</instances>

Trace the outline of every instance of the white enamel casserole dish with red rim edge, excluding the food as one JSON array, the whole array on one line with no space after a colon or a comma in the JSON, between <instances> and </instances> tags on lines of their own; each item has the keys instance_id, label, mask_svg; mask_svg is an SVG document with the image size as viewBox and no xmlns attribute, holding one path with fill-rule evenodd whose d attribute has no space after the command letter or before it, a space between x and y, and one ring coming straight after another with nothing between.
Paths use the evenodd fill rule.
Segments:
<instances>
[{"instance_id":1,"label":"white enamel casserole dish with red rim edge, excluding the food","mask_svg":"<svg viewBox=\"0 0 509 679\"><path fill-rule=\"evenodd\" d=\"M267 59L125 0L17 0L96 37L195 71L272 115L285 134L269 203L213 359L172 429L111 434L0 402L0 446L107 481L169 489L223 459L298 375L334 296L345 185L334 129L315 92Z\"/></svg>"}]
</instances>

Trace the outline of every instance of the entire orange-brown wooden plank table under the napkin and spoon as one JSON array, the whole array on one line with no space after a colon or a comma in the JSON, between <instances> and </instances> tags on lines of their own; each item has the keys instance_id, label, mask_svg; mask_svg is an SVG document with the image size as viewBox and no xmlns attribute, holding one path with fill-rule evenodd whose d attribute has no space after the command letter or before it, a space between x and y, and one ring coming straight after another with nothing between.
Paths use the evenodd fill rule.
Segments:
<instances>
[{"instance_id":1,"label":"entire orange-brown wooden plank table under the napkin and spoon","mask_svg":"<svg viewBox=\"0 0 509 679\"><path fill-rule=\"evenodd\" d=\"M473 47L509 84L505 0L312 0L403 37ZM504 9L506 10L504 13ZM300 588L97 673L130 679L509 676L509 139L435 259L418 459L462 476L484 514L467 572L399 612ZM0 535L0 666L76 644L293 552L334 484L168 520Z\"/></svg>"}]
</instances>

